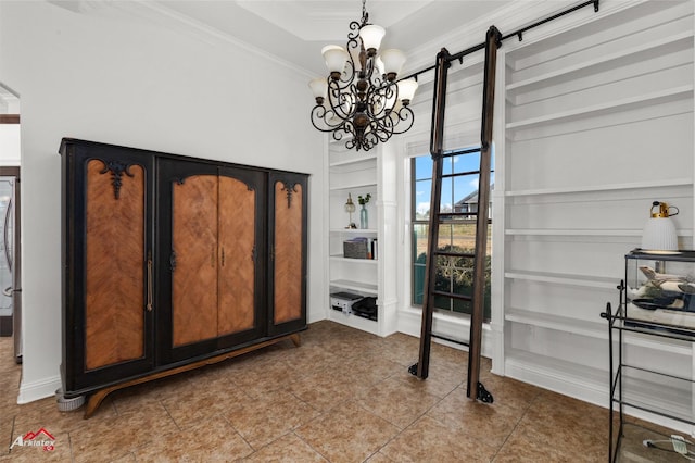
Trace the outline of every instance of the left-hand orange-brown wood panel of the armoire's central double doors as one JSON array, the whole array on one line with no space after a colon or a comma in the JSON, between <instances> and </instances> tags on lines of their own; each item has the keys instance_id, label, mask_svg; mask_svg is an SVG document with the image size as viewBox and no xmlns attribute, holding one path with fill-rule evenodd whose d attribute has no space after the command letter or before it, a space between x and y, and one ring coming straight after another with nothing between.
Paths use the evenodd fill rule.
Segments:
<instances>
[{"instance_id":1,"label":"left-hand orange-brown wood panel of the armoire's central double doors","mask_svg":"<svg viewBox=\"0 0 695 463\"><path fill-rule=\"evenodd\" d=\"M173 184L173 345L217 336L217 176Z\"/></svg>"}]
</instances>

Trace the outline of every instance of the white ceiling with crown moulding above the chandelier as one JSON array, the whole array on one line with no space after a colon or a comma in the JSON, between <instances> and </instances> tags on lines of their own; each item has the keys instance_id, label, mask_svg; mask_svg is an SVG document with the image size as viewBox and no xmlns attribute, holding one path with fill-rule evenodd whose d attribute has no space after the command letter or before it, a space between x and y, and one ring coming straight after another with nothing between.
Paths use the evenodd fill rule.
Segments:
<instances>
[{"instance_id":1,"label":"white ceiling with crown moulding above the chandelier","mask_svg":"<svg viewBox=\"0 0 695 463\"><path fill-rule=\"evenodd\" d=\"M117 12L126 18L128 15L146 17L152 22L153 27L157 24L184 27L197 34L251 45L256 50L275 55L316 76L326 73L321 48L328 43L344 46L350 23L362 17L361 0L47 1L76 14L108 15ZM511 2L513 0L367 0L366 8L369 22L387 29L382 49L399 48L409 54L434 38L464 29L467 24L479 22ZM480 28L481 35L484 29ZM432 57L444 45L438 43Z\"/></svg>"}]
</instances>

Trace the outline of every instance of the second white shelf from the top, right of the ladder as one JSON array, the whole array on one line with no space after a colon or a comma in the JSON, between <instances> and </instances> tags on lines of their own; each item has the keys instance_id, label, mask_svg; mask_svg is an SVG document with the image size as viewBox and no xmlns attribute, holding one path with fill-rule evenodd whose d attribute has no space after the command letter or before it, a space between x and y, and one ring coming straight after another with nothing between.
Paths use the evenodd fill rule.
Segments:
<instances>
[{"instance_id":1,"label":"second white shelf from the top, right of the ladder","mask_svg":"<svg viewBox=\"0 0 695 463\"><path fill-rule=\"evenodd\" d=\"M560 111L557 113L545 114L538 117L529 117L521 121L510 122L506 125L507 130L514 130L518 128L528 128L536 125L543 125L548 123L564 122L573 118L595 116L608 111L627 110L628 107L642 105L648 107L658 104L660 102L668 101L674 98L683 98L688 93L693 93L692 85L684 85L681 87L669 88L666 90L654 91L652 93L639 95L635 97L623 98L617 101L606 101L598 104L593 104L584 108L577 108L567 111Z\"/></svg>"}]
</instances>

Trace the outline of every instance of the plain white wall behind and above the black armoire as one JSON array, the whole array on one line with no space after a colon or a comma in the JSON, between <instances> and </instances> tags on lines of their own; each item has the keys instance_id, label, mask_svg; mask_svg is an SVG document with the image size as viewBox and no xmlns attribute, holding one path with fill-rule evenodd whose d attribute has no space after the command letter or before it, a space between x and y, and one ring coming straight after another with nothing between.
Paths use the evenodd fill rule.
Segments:
<instances>
[{"instance_id":1,"label":"plain white wall behind and above the black armoire","mask_svg":"<svg viewBox=\"0 0 695 463\"><path fill-rule=\"evenodd\" d=\"M306 76L228 43L47 2L0 2L0 70L22 100L20 402L59 384L62 137L313 174L309 242L323 236L323 139L307 123ZM309 321L325 315L323 275L309 251Z\"/></svg>"}]
</instances>

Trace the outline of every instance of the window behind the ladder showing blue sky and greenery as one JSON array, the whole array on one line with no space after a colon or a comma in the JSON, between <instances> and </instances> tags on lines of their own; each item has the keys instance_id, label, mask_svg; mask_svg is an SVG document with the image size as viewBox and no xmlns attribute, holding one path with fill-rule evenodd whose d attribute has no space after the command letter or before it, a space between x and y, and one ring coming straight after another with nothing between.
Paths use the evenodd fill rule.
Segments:
<instances>
[{"instance_id":1,"label":"window behind the ladder showing blue sky and greenery","mask_svg":"<svg viewBox=\"0 0 695 463\"><path fill-rule=\"evenodd\" d=\"M468 149L466 149L467 151ZM465 150L460 150L465 151ZM455 154L456 150L450 152ZM427 235L430 217L432 190L432 158L428 155L412 159L412 236L413 236L413 304L422 305L425 287L425 264L427 258ZM439 228L438 248L453 252L472 252L476 248L476 212L478 211L478 179L480 151L455 154L443 160L443 174L457 174L442 178L441 213L471 212L470 215L442 216ZM493 162L494 165L494 154ZM494 173L490 178L494 188ZM492 196L490 196L492 201ZM490 320L490 274L492 255L492 204L489 209L488 254L485 261L484 320ZM473 260L470 258L438 258L434 288L447 292L472 295ZM434 309L452 313L470 314L471 303L450 298L434 298Z\"/></svg>"}]
</instances>

